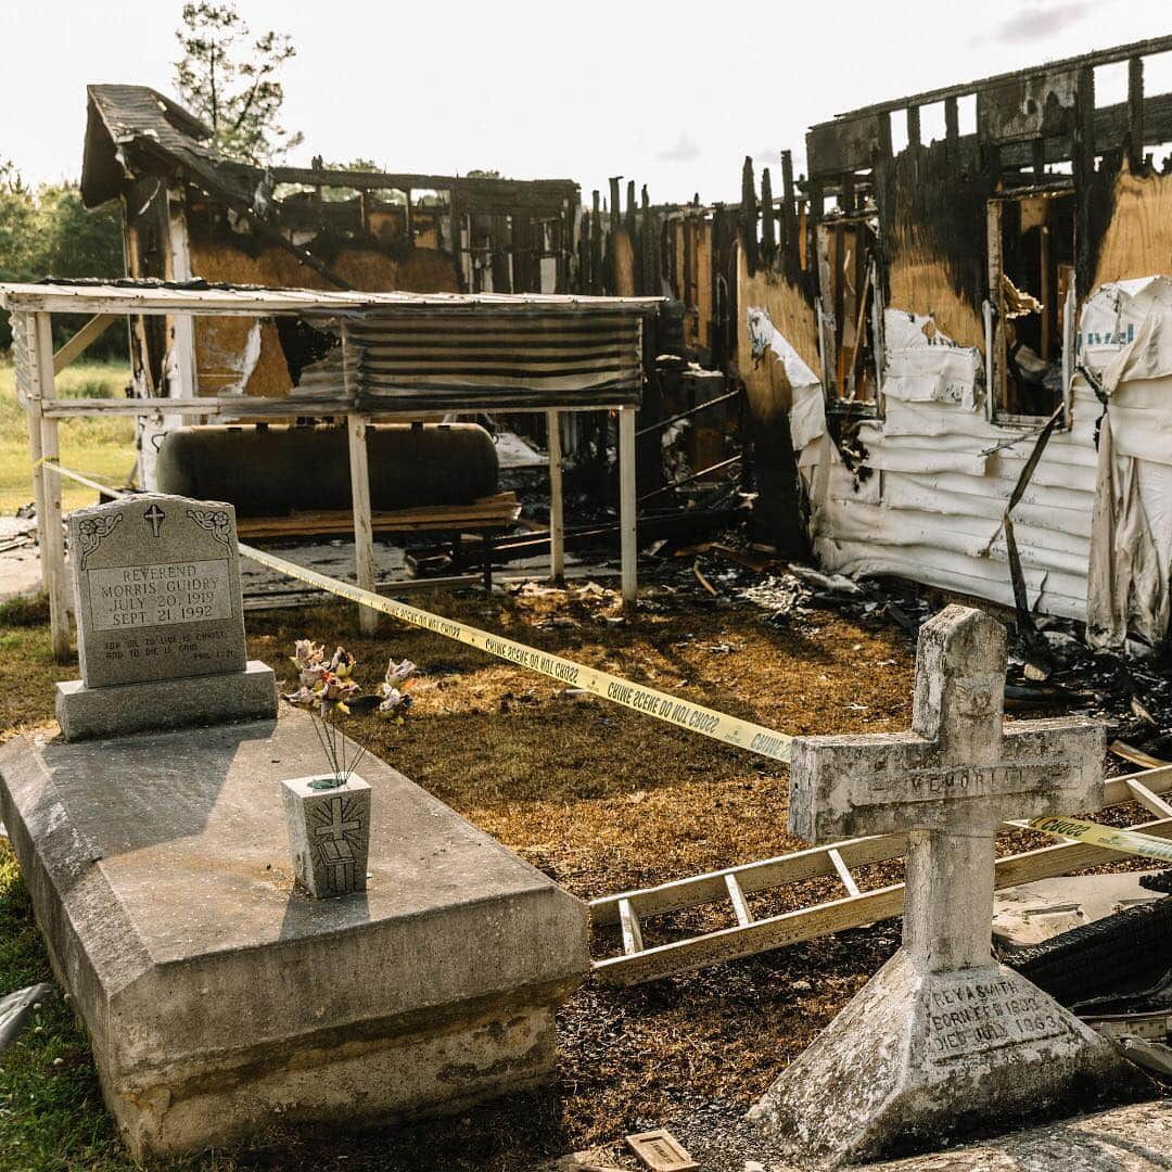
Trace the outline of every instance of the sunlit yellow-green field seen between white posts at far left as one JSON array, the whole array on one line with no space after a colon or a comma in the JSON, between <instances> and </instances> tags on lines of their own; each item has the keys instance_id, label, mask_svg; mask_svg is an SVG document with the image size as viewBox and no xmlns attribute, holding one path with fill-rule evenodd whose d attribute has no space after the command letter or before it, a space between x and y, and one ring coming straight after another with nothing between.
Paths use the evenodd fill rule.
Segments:
<instances>
[{"instance_id":1,"label":"sunlit yellow-green field seen between white posts at far left","mask_svg":"<svg viewBox=\"0 0 1172 1172\"><path fill-rule=\"evenodd\" d=\"M124 362L74 362L57 375L61 398L121 396L130 381ZM124 484L135 468L135 422L129 416L61 421L61 462L115 486ZM11 361L0 361L0 516L11 516L33 499L28 421L16 402L16 381ZM94 504L96 493L64 482L62 505L68 511Z\"/></svg>"}]
</instances>

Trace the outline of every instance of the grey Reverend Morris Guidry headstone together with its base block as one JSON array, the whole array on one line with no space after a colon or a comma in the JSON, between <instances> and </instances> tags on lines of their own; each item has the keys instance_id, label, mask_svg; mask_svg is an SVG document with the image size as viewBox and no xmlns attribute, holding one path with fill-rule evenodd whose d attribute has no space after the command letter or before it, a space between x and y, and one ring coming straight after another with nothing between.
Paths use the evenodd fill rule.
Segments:
<instances>
[{"instance_id":1,"label":"grey Reverend Morris Guidry headstone together with its base block","mask_svg":"<svg viewBox=\"0 0 1172 1172\"><path fill-rule=\"evenodd\" d=\"M82 677L57 687L67 740L275 715L273 673L245 654L231 505L144 493L79 509L69 548Z\"/></svg>"}]
</instances>

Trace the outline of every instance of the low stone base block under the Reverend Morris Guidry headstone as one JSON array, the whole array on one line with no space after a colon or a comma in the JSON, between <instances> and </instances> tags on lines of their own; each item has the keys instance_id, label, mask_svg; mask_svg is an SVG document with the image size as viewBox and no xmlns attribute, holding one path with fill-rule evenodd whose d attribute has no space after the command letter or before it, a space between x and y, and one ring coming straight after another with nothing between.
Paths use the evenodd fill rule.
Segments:
<instances>
[{"instance_id":1,"label":"low stone base block under the Reverend Morris Guidry headstone","mask_svg":"<svg viewBox=\"0 0 1172 1172\"><path fill-rule=\"evenodd\" d=\"M67 741L271 720L277 715L277 676L259 660L248 660L243 672L148 683L87 688L81 680L68 680L57 684L56 708Z\"/></svg>"}]
</instances>

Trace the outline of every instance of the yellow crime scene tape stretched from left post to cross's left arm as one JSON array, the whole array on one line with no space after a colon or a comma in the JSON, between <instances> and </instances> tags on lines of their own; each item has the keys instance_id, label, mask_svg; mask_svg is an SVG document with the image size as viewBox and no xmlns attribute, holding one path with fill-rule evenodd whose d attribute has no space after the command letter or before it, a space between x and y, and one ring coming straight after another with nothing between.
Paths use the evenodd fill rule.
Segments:
<instances>
[{"instance_id":1,"label":"yellow crime scene tape stretched from left post to cross's left arm","mask_svg":"<svg viewBox=\"0 0 1172 1172\"><path fill-rule=\"evenodd\" d=\"M46 468L70 479L77 481L88 488L105 492L115 498L123 498L129 493L120 492L105 484L90 479L82 472L64 468L54 461L41 461ZM687 729L690 732L699 732L701 736L711 737L723 744L730 744L738 749L748 749L750 752L770 757L774 761L789 762L790 743L792 737L775 729L765 728L763 724L755 724L752 721L738 720L725 713L706 708L703 704L695 704L690 700L681 700L679 696L668 695L666 691L657 691L641 683L632 683L621 676L611 675L609 672L600 672L598 668L586 667L582 663L574 663L572 660L563 659L550 652L538 650L518 643L516 640L505 639L502 635L490 634L478 627L470 627L465 622L457 622L454 619L444 619L442 615L432 614L429 611L421 611L418 607L408 606L396 599L383 598L372 591L362 590L360 586L352 586L349 582L339 581L327 574L319 574L314 570L306 570L293 561L274 557L264 550L255 550L250 545L240 545L240 557L255 561L258 565L267 566L278 573L286 574L327 591L341 598L357 602L360 606L368 606L382 614L389 614L401 622L421 627L424 631L435 632L447 639L476 647L478 650L488 652L498 659L507 660L519 667L537 672L540 675L550 676L559 683L570 688L580 688L591 695L601 696L632 711L642 713L645 716L653 716L655 720L676 728Z\"/></svg>"}]
</instances>

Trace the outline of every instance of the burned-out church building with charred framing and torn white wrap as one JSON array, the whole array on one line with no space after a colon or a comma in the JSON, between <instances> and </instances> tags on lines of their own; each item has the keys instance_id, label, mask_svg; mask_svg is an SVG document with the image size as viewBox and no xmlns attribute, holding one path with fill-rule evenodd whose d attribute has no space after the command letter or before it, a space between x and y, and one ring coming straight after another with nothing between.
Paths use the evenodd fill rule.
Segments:
<instances>
[{"instance_id":1,"label":"burned-out church building with charred framing and torn white wrap","mask_svg":"<svg viewBox=\"0 0 1172 1172\"><path fill-rule=\"evenodd\" d=\"M759 176L745 162L737 203L679 206L618 179L582 206L571 180L261 171L154 91L100 86L83 195L121 199L134 277L666 295L640 427L687 416L680 483L738 476L758 533L827 570L1156 642L1172 94L1145 63L1170 53L1161 38L841 114L810 129L804 173L781 151ZM316 369L295 325L131 334L144 395L285 395Z\"/></svg>"}]
</instances>

